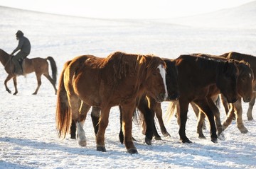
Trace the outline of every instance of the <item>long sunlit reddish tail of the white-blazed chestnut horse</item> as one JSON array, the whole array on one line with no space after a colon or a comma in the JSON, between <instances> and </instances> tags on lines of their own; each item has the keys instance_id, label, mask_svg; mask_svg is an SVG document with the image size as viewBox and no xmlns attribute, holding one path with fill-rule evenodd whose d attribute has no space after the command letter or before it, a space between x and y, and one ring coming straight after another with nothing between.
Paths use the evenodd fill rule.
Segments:
<instances>
[{"instance_id":1,"label":"long sunlit reddish tail of the white-blazed chestnut horse","mask_svg":"<svg viewBox=\"0 0 256 169\"><path fill-rule=\"evenodd\" d=\"M56 106L56 128L58 130L58 137L64 136L70 129L70 122L72 120L72 114L68 105L68 95L64 86L64 71L70 62L66 62L63 71L60 74L60 81L58 84L57 92L57 106Z\"/></svg>"}]
</instances>

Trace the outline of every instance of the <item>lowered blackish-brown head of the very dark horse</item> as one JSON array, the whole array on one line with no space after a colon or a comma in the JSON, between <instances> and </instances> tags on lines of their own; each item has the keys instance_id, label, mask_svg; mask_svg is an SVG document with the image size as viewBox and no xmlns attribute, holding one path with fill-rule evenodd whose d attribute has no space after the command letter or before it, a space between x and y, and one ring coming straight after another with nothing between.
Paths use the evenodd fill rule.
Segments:
<instances>
[{"instance_id":1,"label":"lowered blackish-brown head of the very dark horse","mask_svg":"<svg viewBox=\"0 0 256 169\"><path fill-rule=\"evenodd\" d=\"M225 61L218 69L217 87L220 93L225 95L228 103L235 103L238 100L238 68L235 66L235 61Z\"/></svg>"}]
</instances>

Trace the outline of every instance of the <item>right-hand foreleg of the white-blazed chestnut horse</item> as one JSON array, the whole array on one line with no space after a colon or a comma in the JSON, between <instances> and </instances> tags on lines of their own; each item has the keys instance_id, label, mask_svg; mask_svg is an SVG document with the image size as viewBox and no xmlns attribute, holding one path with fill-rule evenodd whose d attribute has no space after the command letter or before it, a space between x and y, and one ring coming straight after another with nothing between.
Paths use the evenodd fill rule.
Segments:
<instances>
[{"instance_id":1,"label":"right-hand foreleg of the white-blazed chestnut horse","mask_svg":"<svg viewBox=\"0 0 256 169\"><path fill-rule=\"evenodd\" d=\"M134 113L134 105L122 106L122 129L124 133L124 145L128 153L138 153L132 141L132 115Z\"/></svg>"}]
</instances>

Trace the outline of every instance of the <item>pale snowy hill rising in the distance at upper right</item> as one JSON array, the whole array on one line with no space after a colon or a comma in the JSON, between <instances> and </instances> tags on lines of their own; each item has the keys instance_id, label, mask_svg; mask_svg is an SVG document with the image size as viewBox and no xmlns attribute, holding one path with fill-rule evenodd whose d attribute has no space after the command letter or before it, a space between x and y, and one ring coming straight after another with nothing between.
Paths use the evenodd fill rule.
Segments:
<instances>
[{"instance_id":1,"label":"pale snowy hill rising in the distance at upper right","mask_svg":"<svg viewBox=\"0 0 256 169\"><path fill-rule=\"evenodd\" d=\"M168 22L208 28L256 28L256 1L212 13L173 18Z\"/></svg>"}]
</instances>

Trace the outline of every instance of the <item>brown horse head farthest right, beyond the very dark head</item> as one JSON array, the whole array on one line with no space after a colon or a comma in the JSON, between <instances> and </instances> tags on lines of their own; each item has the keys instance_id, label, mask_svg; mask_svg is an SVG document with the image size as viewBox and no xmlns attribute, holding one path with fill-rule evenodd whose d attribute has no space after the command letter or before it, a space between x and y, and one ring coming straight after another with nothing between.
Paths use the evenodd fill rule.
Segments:
<instances>
[{"instance_id":1,"label":"brown horse head farthest right, beyond the very dark head","mask_svg":"<svg viewBox=\"0 0 256 169\"><path fill-rule=\"evenodd\" d=\"M238 64L239 74L238 74L238 94L241 95L245 103L250 102L252 99L252 81L254 79L254 74L252 69L250 69L250 64L245 62L240 62Z\"/></svg>"}]
</instances>

